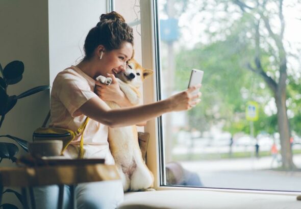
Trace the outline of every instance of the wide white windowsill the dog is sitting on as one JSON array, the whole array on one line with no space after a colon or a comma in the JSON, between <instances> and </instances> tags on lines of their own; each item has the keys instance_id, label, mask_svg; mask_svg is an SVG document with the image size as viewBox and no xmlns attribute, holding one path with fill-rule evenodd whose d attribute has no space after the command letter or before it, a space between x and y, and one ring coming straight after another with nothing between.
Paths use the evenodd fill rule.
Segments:
<instances>
[{"instance_id":1,"label":"wide white windowsill the dog is sitting on","mask_svg":"<svg viewBox=\"0 0 301 209\"><path fill-rule=\"evenodd\" d=\"M162 190L161 190L162 189ZM163 190L164 189L164 190ZM168 189L168 190L166 190ZM296 194L265 191L224 191L198 188L160 188L154 192L131 192L118 207L126 208L300 208Z\"/></svg>"}]
</instances>

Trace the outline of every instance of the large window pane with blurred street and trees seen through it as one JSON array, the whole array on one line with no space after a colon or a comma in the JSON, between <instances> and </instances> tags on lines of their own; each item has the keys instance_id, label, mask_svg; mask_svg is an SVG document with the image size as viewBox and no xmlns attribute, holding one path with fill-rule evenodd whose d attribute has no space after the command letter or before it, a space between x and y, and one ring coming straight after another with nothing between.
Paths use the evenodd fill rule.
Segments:
<instances>
[{"instance_id":1,"label":"large window pane with blurred street and trees seen through it","mask_svg":"<svg viewBox=\"0 0 301 209\"><path fill-rule=\"evenodd\" d=\"M200 104L162 117L162 184L301 191L301 3L155 8L161 99L186 89L192 68L205 72Z\"/></svg>"}]
</instances>

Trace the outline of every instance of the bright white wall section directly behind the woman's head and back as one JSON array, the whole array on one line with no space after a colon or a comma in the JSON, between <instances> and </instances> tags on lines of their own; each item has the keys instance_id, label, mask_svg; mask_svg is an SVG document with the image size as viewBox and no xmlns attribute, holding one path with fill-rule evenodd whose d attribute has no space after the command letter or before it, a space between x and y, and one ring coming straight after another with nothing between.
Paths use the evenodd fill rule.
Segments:
<instances>
[{"instance_id":1,"label":"bright white wall section directly behind the woman's head and back","mask_svg":"<svg viewBox=\"0 0 301 209\"><path fill-rule=\"evenodd\" d=\"M84 55L84 41L99 16L106 13L106 0L49 1L50 83L58 72L78 64Z\"/></svg>"}]
</instances>

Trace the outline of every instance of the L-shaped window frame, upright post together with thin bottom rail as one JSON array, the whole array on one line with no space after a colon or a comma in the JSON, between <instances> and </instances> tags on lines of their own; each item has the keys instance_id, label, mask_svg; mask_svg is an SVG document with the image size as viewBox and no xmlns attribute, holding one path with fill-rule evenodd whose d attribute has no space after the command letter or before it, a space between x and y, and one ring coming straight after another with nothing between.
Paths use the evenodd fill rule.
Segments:
<instances>
[{"instance_id":1,"label":"L-shaped window frame, upright post together with thin bottom rail","mask_svg":"<svg viewBox=\"0 0 301 209\"><path fill-rule=\"evenodd\" d=\"M153 69L156 73L152 79L143 84L144 103L155 102L161 99L160 88L160 34L159 20L157 18L157 0L143 0L140 2L141 11L141 41L142 41L142 65L145 68ZM147 95L147 96L146 96ZM166 186L165 182L165 159L162 117L147 122L145 132L150 134L147 148L146 164L154 174L154 188L156 190L202 190L230 193L255 193L274 195L299 195L296 191L273 191L253 189L224 189L224 188L196 188Z\"/></svg>"}]
</instances>

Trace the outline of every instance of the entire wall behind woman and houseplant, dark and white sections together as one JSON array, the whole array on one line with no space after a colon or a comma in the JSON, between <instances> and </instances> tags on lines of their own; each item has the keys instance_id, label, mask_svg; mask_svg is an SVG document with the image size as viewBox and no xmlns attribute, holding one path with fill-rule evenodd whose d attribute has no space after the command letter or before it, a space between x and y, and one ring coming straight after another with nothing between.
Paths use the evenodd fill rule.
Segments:
<instances>
[{"instance_id":1,"label":"entire wall behind woman and houseplant, dark and white sections together","mask_svg":"<svg viewBox=\"0 0 301 209\"><path fill-rule=\"evenodd\" d=\"M107 10L106 0L1 0L0 63L13 60L24 63L23 79L9 86L9 95L18 95L30 88L53 83L56 74L75 64L88 31ZM33 131L41 126L49 111L49 91L20 99L6 115L0 135L13 135L32 140ZM0 138L0 142L12 142ZM20 154L24 154L20 148ZM15 166L3 160L0 167ZM21 208L14 195L5 195Z\"/></svg>"}]
</instances>

